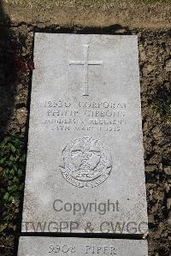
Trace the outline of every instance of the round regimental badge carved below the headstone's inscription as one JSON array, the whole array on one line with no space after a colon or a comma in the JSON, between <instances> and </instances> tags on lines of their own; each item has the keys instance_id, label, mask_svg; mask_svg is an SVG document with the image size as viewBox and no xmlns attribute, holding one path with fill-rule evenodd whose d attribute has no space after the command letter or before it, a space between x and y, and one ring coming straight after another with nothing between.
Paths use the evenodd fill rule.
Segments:
<instances>
[{"instance_id":1,"label":"round regimental badge carved below the headstone's inscription","mask_svg":"<svg viewBox=\"0 0 171 256\"><path fill-rule=\"evenodd\" d=\"M109 177L112 159L103 142L84 136L75 138L64 146L60 167L63 178L72 185L92 188Z\"/></svg>"}]
</instances>

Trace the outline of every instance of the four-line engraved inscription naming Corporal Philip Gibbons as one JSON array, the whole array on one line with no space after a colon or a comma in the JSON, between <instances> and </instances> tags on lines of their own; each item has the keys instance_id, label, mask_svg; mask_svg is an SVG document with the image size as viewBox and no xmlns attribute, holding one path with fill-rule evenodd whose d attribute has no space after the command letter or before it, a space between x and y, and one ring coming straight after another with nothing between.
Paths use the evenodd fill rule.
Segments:
<instances>
[{"instance_id":1,"label":"four-line engraved inscription naming Corporal Philip Gibbons","mask_svg":"<svg viewBox=\"0 0 171 256\"><path fill-rule=\"evenodd\" d=\"M40 118L50 130L120 132L127 125L127 104L51 99L41 104Z\"/></svg>"}]
</instances>

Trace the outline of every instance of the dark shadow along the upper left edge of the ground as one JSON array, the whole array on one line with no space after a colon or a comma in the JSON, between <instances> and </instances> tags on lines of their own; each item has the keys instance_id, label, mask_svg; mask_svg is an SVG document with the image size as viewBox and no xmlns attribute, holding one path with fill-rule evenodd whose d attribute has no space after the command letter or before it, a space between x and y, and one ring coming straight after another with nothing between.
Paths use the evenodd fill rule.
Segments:
<instances>
[{"instance_id":1,"label":"dark shadow along the upper left edge of the ground","mask_svg":"<svg viewBox=\"0 0 171 256\"><path fill-rule=\"evenodd\" d=\"M7 133L7 125L15 98L15 39L9 29L8 15L0 2L0 140Z\"/></svg>"}]
</instances>

